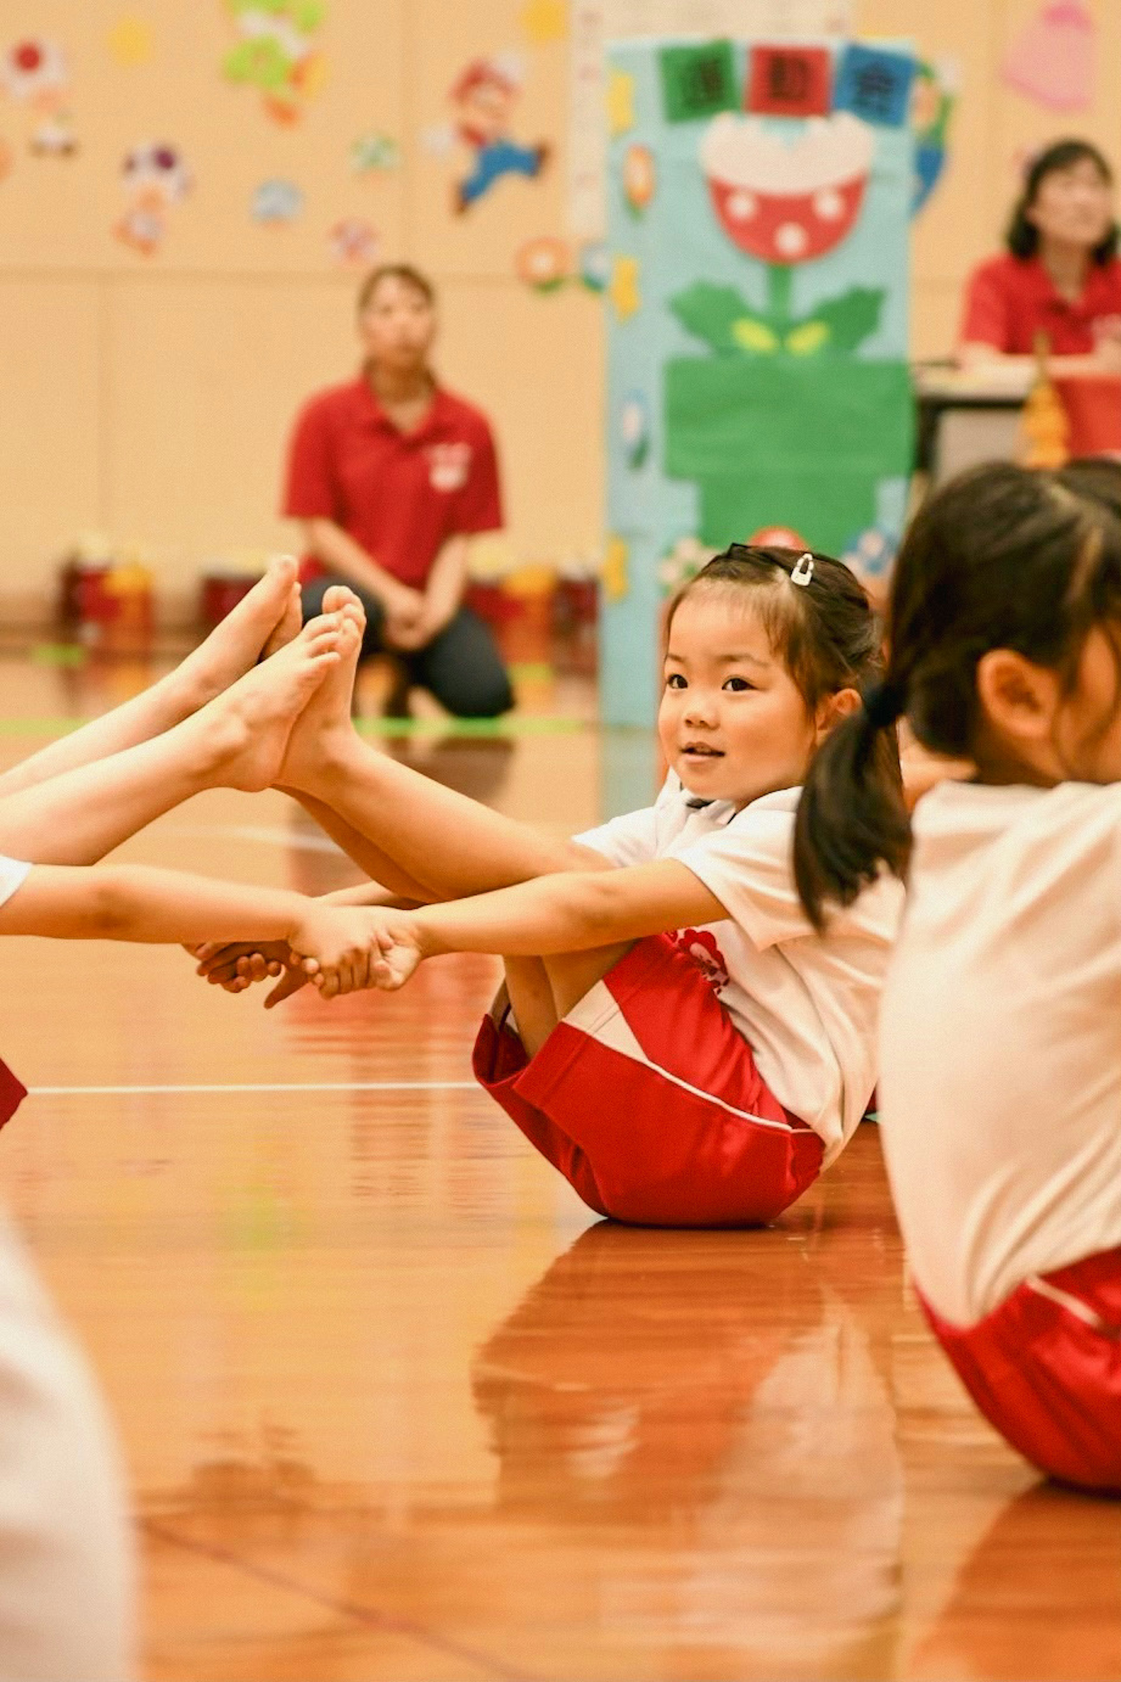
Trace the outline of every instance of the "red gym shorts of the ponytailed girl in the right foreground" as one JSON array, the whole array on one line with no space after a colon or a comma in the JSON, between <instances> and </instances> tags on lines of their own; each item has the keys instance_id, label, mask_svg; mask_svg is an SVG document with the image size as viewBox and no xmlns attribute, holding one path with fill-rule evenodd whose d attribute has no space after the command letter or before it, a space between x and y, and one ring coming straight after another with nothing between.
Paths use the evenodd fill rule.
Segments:
<instances>
[{"instance_id":1,"label":"red gym shorts of the ponytailed girl in the right foreground","mask_svg":"<svg viewBox=\"0 0 1121 1682\"><path fill-rule=\"evenodd\" d=\"M1025 1280L976 1325L922 1309L1013 1448L1064 1484L1121 1494L1121 1250Z\"/></svg>"}]
</instances>

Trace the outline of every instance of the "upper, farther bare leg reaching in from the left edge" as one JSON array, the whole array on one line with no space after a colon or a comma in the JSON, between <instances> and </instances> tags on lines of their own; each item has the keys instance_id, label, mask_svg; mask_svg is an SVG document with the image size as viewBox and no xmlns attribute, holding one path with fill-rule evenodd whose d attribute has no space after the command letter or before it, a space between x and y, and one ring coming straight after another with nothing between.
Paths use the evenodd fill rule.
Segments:
<instances>
[{"instance_id":1,"label":"upper, farther bare leg reaching in from the left edge","mask_svg":"<svg viewBox=\"0 0 1121 1682\"><path fill-rule=\"evenodd\" d=\"M288 641L298 631L296 562L284 557L273 562L266 575L175 671L123 706L93 718L81 730L5 770L0 775L0 799L173 728L249 671L271 637Z\"/></svg>"}]
</instances>

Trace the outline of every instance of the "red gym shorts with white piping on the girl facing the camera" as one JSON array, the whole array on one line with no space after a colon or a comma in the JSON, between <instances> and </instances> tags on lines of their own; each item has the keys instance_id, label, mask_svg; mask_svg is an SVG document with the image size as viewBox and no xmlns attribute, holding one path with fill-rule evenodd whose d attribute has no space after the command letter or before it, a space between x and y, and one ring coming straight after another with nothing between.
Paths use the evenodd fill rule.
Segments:
<instances>
[{"instance_id":1,"label":"red gym shorts with white piping on the girl facing the camera","mask_svg":"<svg viewBox=\"0 0 1121 1682\"><path fill-rule=\"evenodd\" d=\"M640 940L535 1058L485 1018L475 1076L598 1214L761 1226L813 1184L821 1140L768 1090L700 967Z\"/></svg>"}]
</instances>

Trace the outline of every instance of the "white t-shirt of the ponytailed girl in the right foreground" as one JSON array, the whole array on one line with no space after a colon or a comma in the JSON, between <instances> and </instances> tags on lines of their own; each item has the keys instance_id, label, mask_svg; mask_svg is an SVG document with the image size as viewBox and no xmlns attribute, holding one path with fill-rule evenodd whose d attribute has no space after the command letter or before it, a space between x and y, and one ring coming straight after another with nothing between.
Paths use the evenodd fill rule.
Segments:
<instances>
[{"instance_id":1,"label":"white t-shirt of the ponytailed girl in the right foreground","mask_svg":"<svg viewBox=\"0 0 1121 1682\"><path fill-rule=\"evenodd\" d=\"M973 1325L1121 1245L1121 785L919 802L880 1122L919 1290Z\"/></svg>"}]
</instances>

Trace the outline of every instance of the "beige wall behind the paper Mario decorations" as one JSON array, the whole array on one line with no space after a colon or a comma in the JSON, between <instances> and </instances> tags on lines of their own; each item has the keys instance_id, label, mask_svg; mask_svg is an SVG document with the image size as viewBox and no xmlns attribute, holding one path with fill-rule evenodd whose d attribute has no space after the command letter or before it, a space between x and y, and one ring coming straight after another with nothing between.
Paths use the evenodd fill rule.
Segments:
<instances>
[{"instance_id":1,"label":"beige wall behind the paper Mario decorations","mask_svg":"<svg viewBox=\"0 0 1121 1682\"><path fill-rule=\"evenodd\" d=\"M1008 39L1040 0L857 0L862 34L914 39L961 64L948 175L914 252L914 348L953 341L968 266L996 242L1015 155L1059 131L1097 140L1118 161L1121 7L1097 0L1091 113L1055 118L998 79ZM180 612L209 558L290 543L274 516L283 447L300 400L353 365L355 276L332 267L325 232L362 215L385 256L429 269L443 298L444 378L493 415L510 547L523 560L587 555L599 543L601 309L589 293L529 293L513 254L564 232L567 45L530 44L525 0L328 0L323 93L281 128L251 87L224 81L234 32L220 0L37 0L0 32L32 27L66 45L81 151L32 156L30 116L0 98L0 609L49 597L56 558L81 532L136 542ZM151 59L125 67L108 35L121 15L151 25ZM475 54L523 54L515 133L555 156L535 183L498 185L449 214L454 158L426 131L448 123L446 89ZM350 172L367 130L401 141L401 168ZM168 214L151 257L111 235L125 151L180 146L192 193ZM306 192L290 227L249 217L254 187L290 177Z\"/></svg>"}]
</instances>

